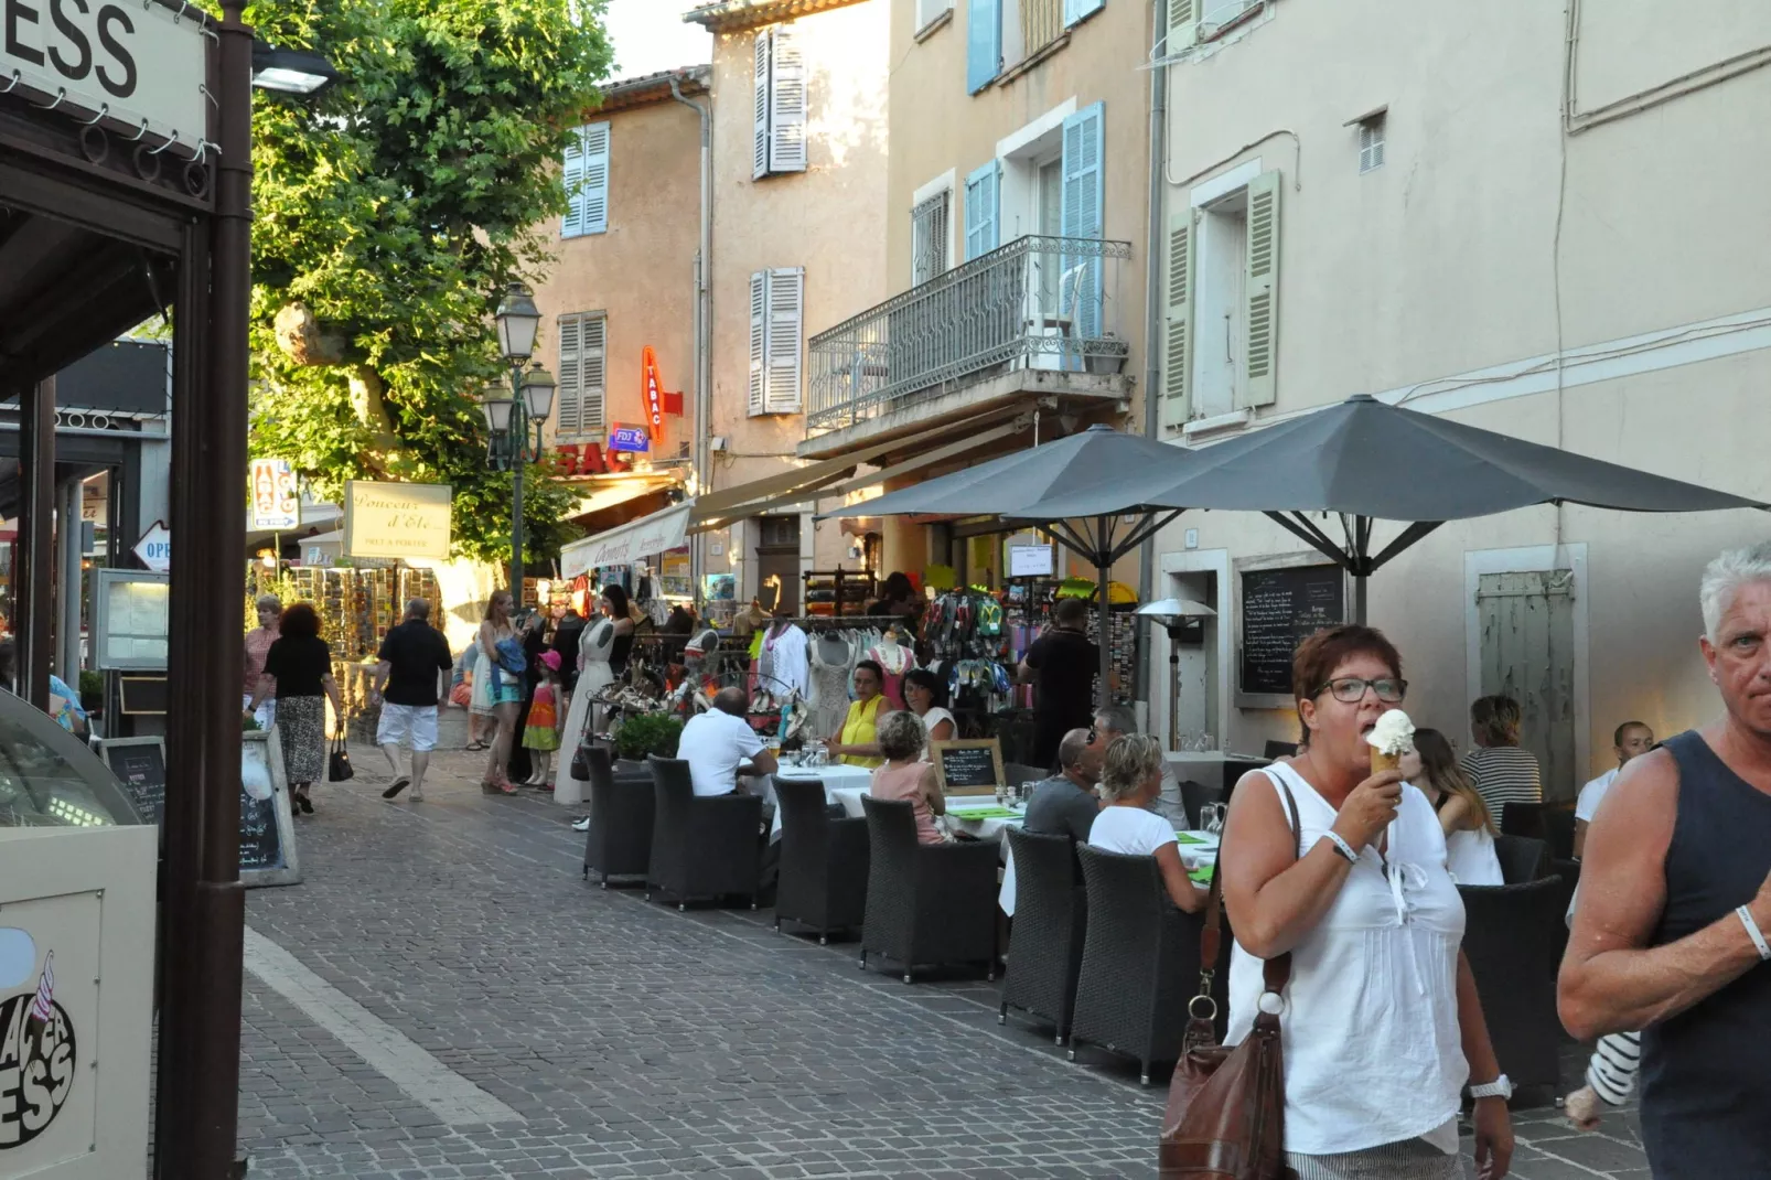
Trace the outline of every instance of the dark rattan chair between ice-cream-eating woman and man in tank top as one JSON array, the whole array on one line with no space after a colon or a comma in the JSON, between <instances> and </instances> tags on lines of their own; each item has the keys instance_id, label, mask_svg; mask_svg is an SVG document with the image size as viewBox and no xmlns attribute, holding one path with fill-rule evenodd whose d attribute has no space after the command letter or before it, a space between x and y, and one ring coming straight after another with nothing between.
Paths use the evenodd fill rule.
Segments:
<instances>
[{"instance_id":1,"label":"dark rattan chair between ice-cream-eating woman and man in tank top","mask_svg":"<svg viewBox=\"0 0 1771 1180\"><path fill-rule=\"evenodd\" d=\"M1555 1086L1562 1044L1555 974L1567 905L1562 879L1458 886L1458 893L1466 914L1463 951L1502 1072L1516 1086Z\"/></svg>"}]
</instances>

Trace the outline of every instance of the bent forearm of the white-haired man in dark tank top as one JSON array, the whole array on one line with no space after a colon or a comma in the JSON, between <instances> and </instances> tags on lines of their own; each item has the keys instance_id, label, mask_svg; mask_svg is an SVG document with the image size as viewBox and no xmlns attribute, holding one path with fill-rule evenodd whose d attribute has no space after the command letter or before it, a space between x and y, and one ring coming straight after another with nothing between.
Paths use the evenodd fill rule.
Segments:
<instances>
[{"instance_id":1,"label":"bent forearm of the white-haired man in dark tank top","mask_svg":"<svg viewBox=\"0 0 1771 1180\"><path fill-rule=\"evenodd\" d=\"M1764 927L1766 914L1755 916ZM1679 1015L1759 966L1759 948L1732 911L1677 943L1569 959L1557 985L1562 1024L1582 1040L1642 1029Z\"/></svg>"}]
</instances>

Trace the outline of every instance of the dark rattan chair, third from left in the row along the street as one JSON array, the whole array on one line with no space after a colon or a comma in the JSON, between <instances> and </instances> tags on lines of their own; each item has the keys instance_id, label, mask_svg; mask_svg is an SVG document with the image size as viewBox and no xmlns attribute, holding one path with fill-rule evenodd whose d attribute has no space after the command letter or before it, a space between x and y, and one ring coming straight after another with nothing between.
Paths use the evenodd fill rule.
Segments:
<instances>
[{"instance_id":1,"label":"dark rattan chair, third from left in the row along the street","mask_svg":"<svg viewBox=\"0 0 1771 1180\"><path fill-rule=\"evenodd\" d=\"M824 783L777 778L781 808L781 886L776 930L783 921L811 927L818 944L838 930L855 930L868 905L868 822L831 819Z\"/></svg>"}]
</instances>

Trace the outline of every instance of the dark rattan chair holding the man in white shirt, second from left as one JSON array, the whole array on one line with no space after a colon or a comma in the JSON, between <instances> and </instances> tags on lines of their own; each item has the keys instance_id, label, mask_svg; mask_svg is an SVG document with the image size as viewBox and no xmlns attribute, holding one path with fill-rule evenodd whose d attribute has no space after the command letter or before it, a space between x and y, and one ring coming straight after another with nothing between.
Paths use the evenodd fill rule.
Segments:
<instances>
[{"instance_id":1,"label":"dark rattan chair holding the man in white shirt, second from left","mask_svg":"<svg viewBox=\"0 0 1771 1180\"><path fill-rule=\"evenodd\" d=\"M762 797L698 799L687 762L659 757L646 762L652 765L657 799L646 900L662 893L677 902L677 909L687 909L696 900L744 897L756 909L762 888Z\"/></svg>"}]
</instances>

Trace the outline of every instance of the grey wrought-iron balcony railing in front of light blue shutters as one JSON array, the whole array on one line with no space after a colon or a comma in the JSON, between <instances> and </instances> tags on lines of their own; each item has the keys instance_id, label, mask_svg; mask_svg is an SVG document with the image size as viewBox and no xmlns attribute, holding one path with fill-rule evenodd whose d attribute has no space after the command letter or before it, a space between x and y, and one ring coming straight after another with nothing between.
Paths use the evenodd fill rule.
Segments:
<instances>
[{"instance_id":1,"label":"grey wrought-iron balcony railing in front of light blue shutters","mask_svg":"<svg viewBox=\"0 0 1771 1180\"><path fill-rule=\"evenodd\" d=\"M806 432L854 425L999 372L1119 372L1132 245L1018 237L811 338Z\"/></svg>"}]
</instances>

